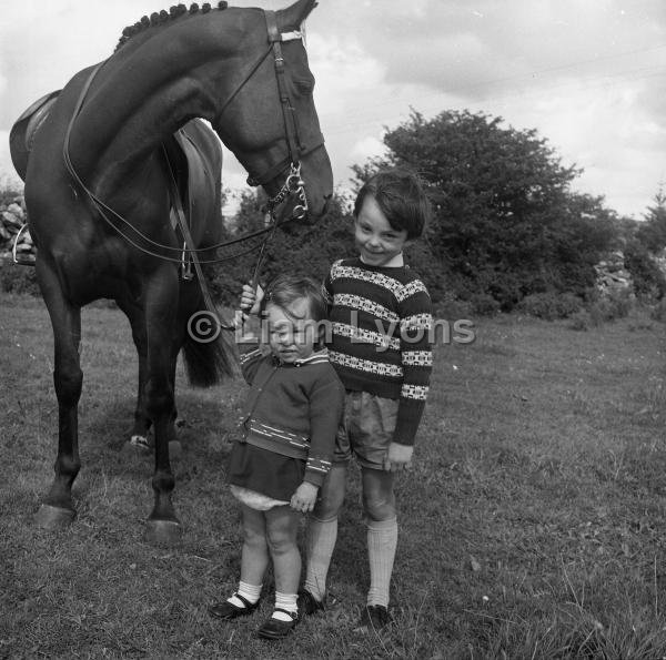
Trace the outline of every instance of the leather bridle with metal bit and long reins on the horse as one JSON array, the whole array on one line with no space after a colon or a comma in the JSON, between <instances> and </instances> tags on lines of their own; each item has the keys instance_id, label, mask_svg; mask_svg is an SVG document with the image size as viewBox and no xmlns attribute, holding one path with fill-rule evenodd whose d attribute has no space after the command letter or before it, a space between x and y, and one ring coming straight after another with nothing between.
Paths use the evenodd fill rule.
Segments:
<instances>
[{"instance_id":1,"label":"leather bridle with metal bit and long reins on the horse","mask_svg":"<svg viewBox=\"0 0 666 660\"><path fill-rule=\"evenodd\" d=\"M254 65L250 69L250 71L245 74L242 82L229 95L229 98L226 99L226 101L223 103L222 108L218 112L218 118L220 118L222 115L222 113L224 112L224 110L226 110L226 108L229 108L229 105L232 103L232 101L239 94L239 92L252 79L252 77L259 70L259 68L264 62L264 60L271 53L273 53L274 68L275 68L275 80L278 83L278 93L280 95L280 104L282 108L282 116L283 116L283 122L284 122L284 136L285 136L285 142L286 142L286 148L287 148L287 156L285 156L279 163L275 163L274 165L272 165L266 172L264 172L260 175L255 175L255 174L251 173L250 176L248 177L248 183L253 186L265 185L270 181L273 181L274 179L276 179L287 167L290 167L290 172L289 172L284 183L282 184L282 187L280 189L280 191L274 196L270 197L266 202L266 211L270 216L270 222L268 223L268 226L264 227L263 230L260 230L258 232L252 232L248 236L241 236L238 238L233 238L231 241L223 241L223 242L220 242L214 245L206 246L206 247L198 248L198 247L194 247L194 245L192 243L190 243L190 245L185 246L185 250L183 250L181 247L174 247L172 245L167 245L163 243L155 242L152 238L150 238L149 236L147 236L145 234L143 234L142 232L140 232L139 230L137 230L127 219L124 219L122 215L120 215L119 213L113 211L113 209L109 207L102 200L100 200L83 183L83 181L77 173L77 171L73 166L73 163L71 162L70 154L69 154L69 144L70 144L70 139L71 139L71 133L72 133L72 130L74 126L74 121L75 121L77 116L79 115L81 108L83 106L83 101L85 100L85 97L88 94L90 85L92 84L92 81L94 80L94 77L97 75L97 73L101 69L101 67L105 63L105 61L100 62L91 71L88 80L85 81L85 84L83 85L83 89L81 90L81 93L80 93L77 104L74 106L74 111L72 113L72 116L70 119L70 122L69 122L69 125L68 125L68 129L67 129L67 132L64 135L64 144L62 148L62 155L63 155L65 166L67 166L70 175L74 179L74 181L83 190L83 192L87 194L87 196L91 200L91 202L97 207L97 210L99 211L99 213L101 214L103 220L107 222L107 224L109 224L128 243L130 243L132 246L137 247L141 252L144 252L145 254L162 258L164 261L182 263L182 261L183 261L182 256L175 256L175 255L169 256L169 254L186 252L189 254L189 256L192 258L192 261L194 262L194 265L196 267L198 264L211 264L211 263L220 263L220 262L226 261L225 258L213 258L213 260L201 261L198 258L199 252L210 253L220 247L223 247L223 246L226 246L226 245L230 245L233 243L239 243L239 242L243 241L245 237L250 238L250 237L255 237L261 234L266 234L266 238L263 241L263 243L261 245L260 256L259 256L256 267L254 268L254 276L253 276L253 281L254 281L254 280L256 280L258 273L259 273L262 262L263 262L266 243L272 237L276 226L279 224L289 222L291 220L301 220L307 213L309 207L307 207L307 197L306 197L306 193L305 193L305 182L301 177L301 158L303 155L306 155L307 153L319 149L323 144L323 136L321 136L321 134L320 134L321 139L314 145L312 145L310 149L305 149L304 145L302 144L301 136L299 134L299 123L297 123L297 118L296 118L296 111L291 102L289 92L286 90L286 84L284 81L285 65L284 65L284 58L282 55L282 47L281 47L281 42L283 42L283 41L292 41L295 39L302 39L303 35L300 31L280 32L280 30L278 28L278 20L276 20L275 12L270 11L270 10L263 10L263 11L264 11L264 17L265 17L265 21L266 21L269 48L259 58L259 60L254 63ZM275 210L280 206L280 204L282 204L289 197L295 197L295 200L296 200L296 204L292 209L291 217L279 221L276 217ZM137 241L134 241L133 237L128 236L127 233L123 232L123 230L121 230L119 226L117 226L117 224L107 216L107 213L112 214L118 221L120 221L121 223L127 225L128 229L131 230L137 237L139 237L141 241L148 243L151 246L151 248L147 248L143 245L139 245L137 243ZM159 252L155 252L155 250L161 251L162 254L160 254ZM167 253L167 254L164 254L164 253ZM198 270L198 275L200 275L200 281L203 283L202 275L199 273L199 268L196 268L196 270ZM205 286L205 284L203 284L203 286Z\"/></svg>"}]
</instances>

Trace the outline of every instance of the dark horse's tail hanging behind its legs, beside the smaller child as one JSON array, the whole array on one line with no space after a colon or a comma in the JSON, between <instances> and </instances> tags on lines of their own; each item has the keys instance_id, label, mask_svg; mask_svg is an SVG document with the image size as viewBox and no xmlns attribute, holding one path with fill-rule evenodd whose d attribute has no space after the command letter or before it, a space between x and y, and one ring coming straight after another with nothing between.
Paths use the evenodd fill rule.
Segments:
<instances>
[{"instance_id":1,"label":"dark horse's tail hanging behind its legs, beside the smaller child","mask_svg":"<svg viewBox=\"0 0 666 660\"><path fill-rule=\"evenodd\" d=\"M198 304L186 305L191 313L185 318L182 348L185 374L190 384L195 387L211 387L239 372L235 333L216 325L218 318L206 311L196 280L186 284L193 284L192 291L188 293L196 298Z\"/></svg>"}]
</instances>

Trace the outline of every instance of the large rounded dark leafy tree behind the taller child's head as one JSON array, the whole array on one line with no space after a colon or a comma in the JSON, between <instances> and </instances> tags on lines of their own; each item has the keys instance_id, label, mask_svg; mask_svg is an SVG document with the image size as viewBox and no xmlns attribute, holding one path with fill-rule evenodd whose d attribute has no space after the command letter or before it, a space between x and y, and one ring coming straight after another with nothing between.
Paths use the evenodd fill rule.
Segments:
<instances>
[{"instance_id":1,"label":"large rounded dark leafy tree behind the taller child's head","mask_svg":"<svg viewBox=\"0 0 666 660\"><path fill-rule=\"evenodd\" d=\"M355 174L406 165L422 175L434 204L427 242L447 290L464 299L491 294L511 309L529 294L582 294L594 283L614 214L571 190L581 170L563 166L536 131L468 111L430 121L413 112L384 142L389 154Z\"/></svg>"}]
</instances>

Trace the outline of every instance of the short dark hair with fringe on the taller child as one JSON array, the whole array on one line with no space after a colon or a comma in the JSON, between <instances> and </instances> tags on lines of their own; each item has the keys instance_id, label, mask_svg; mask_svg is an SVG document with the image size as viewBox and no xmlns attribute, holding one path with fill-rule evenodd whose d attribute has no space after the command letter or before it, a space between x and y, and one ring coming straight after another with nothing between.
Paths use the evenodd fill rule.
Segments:
<instances>
[{"instance_id":1,"label":"short dark hair with fringe on the taller child","mask_svg":"<svg viewBox=\"0 0 666 660\"><path fill-rule=\"evenodd\" d=\"M414 172L394 167L380 170L371 176L359 191L354 217L359 217L367 195L375 199L394 230L406 230L407 238L418 238L423 234L432 209L421 180Z\"/></svg>"}]
</instances>

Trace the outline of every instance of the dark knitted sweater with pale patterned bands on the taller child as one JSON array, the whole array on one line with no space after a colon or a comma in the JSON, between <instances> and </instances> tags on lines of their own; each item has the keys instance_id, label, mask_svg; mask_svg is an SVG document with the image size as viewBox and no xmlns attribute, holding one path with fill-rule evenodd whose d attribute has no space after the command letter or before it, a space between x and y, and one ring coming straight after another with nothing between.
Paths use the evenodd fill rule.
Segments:
<instances>
[{"instance_id":1,"label":"dark knitted sweater with pale patterned bands on the taller child","mask_svg":"<svg viewBox=\"0 0 666 660\"><path fill-rule=\"evenodd\" d=\"M408 266L333 264L323 285L329 358L346 389L400 399L393 440L413 445L432 372L431 299Z\"/></svg>"}]
</instances>

